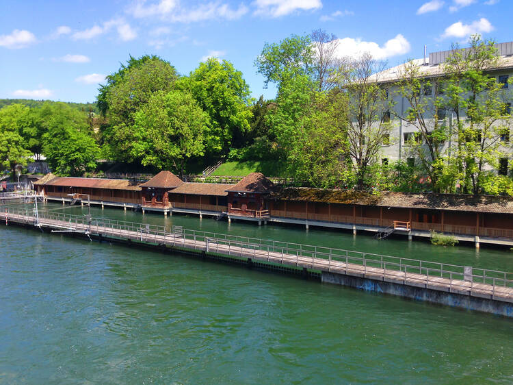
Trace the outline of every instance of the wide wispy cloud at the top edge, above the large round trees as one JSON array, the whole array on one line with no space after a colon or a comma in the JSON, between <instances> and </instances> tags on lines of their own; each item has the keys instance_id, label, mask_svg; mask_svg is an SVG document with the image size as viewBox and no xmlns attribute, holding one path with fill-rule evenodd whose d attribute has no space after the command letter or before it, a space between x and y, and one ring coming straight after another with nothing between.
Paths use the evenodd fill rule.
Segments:
<instances>
[{"instance_id":1,"label":"wide wispy cloud at the top edge, above the large round trees","mask_svg":"<svg viewBox=\"0 0 513 385\"><path fill-rule=\"evenodd\" d=\"M135 18L155 16L174 23L192 23L217 18L234 20L248 13L248 7L240 4L234 9L226 3L210 1L189 9L182 6L178 0L160 0L153 3L138 0L128 8L127 12Z\"/></svg>"}]
</instances>

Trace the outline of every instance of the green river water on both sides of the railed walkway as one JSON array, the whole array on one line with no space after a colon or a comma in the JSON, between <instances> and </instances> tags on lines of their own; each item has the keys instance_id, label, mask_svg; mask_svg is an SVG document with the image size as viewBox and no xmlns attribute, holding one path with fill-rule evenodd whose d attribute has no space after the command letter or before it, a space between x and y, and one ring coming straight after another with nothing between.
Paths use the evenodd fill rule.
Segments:
<instances>
[{"instance_id":1,"label":"green river water on both sides of the railed walkway","mask_svg":"<svg viewBox=\"0 0 513 385\"><path fill-rule=\"evenodd\" d=\"M513 271L505 251L176 214L93 214ZM510 319L0 227L0 382L488 381L513 382Z\"/></svg>"}]
</instances>

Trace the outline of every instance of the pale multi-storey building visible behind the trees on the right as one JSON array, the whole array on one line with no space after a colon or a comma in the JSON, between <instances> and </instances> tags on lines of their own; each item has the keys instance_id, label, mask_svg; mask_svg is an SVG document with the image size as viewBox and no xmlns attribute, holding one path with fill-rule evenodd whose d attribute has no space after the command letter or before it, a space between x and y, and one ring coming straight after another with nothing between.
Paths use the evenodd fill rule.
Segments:
<instances>
[{"instance_id":1,"label":"pale multi-storey building visible behind the trees on the right","mask_svg":"<svg viewBox=\"0 0 513 385\"><path fill-rule=\"evenodd\" d=\"M513 76L513 42L499 43L495 45L495 47L497 48L499 56L498 62L494 66L486 68L484 73L488 75L488 77L495 79L499 84L503 85L503 90L501 90L502 92L500 96L505 105L505 112L501 124L508 127L508 132L504 132L500 138L498 138L501 144L499 149L505 154L505 156L499 160L500 166L497 172L508 175L510 166L507 154L511 153L509 146L509 120L511 113L510 106L513 99L510 92L511 85L509 80ZM465 50L468 49L460 49L458 51L459 53L462 53ZM417 72L416 76L421 79L421 82L423 82L423 86L421 90L419 90L419 98L424 99L426 101L426 106L430 106L433 111L435 110L435 99L439 98L440 100L443 100L444 98L443 82L446 76L444 64L454 53L455 51L452 50L432 52L429 54L429 57L415 59L411 62L412 65L415 66L415 72ZM387 134L386 140L383 141L381 147L380 157L383 164L388 164L389 162L396 160L404 160L409 165L415 165L417 162L415 153L410 151L410 147L412 140L415 140L415 134L419 132L419 129L415 125L415 122L408 122L408 119L406 119L406 114L410 105L408 103L408 99L401 95L397 86L397 82L400 82L404 77L406 77L406 73L408 72L406 71L406 66L408 65L410 64L400 64L380 73L371 75L369 78L370 81L377 82L382 86L382 88L386 89L388 99L386 104L391 105L389 110L387 110L387 107L384 107L384 110L382 111L382 120L383 122L388 123L390 127L390 132ZM486 90L483 92L486 92ZM464 110L460 110L459 114L462 119L466 117ZM430 115L429 111L426 111L423 114L423 118L425 119L426 127L435 127L435 123L438 127L447 127L449 138L440 146L441 151L450 151L456 147L456 140L452 137L456 133L455 112L446 108L438 108L436 110L436 115ZM477 136L477 140L486 139L479 138L479 136Z\"/></svg>"}]
</instances>

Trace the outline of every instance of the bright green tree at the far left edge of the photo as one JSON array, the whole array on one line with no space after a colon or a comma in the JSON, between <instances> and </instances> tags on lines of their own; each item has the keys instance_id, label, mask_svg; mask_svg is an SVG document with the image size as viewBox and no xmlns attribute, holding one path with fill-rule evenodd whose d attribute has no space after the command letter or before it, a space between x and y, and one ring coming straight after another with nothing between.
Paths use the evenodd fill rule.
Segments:
<instances>
[{"instance_id":1,"label":"bright green tree at the far left edge of the photo","mask_svg":"<svg viewBox=\"0 0 513 385\"><path fill-rule=\"evenodd\" d=\"M0 164L15 175L16 164L26 166L31 156L20 132L28 126L29 108L21 104L7 105L0 110Z\"/></svg>"}]
</instances>

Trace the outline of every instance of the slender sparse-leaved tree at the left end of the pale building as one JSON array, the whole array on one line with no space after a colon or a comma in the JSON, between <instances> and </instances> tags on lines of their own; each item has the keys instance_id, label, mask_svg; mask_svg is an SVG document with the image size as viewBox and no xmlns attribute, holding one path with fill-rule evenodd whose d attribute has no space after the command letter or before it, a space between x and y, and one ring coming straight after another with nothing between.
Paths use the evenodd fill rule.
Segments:
<instances>
[{"instance_id":1,"label":"slender sparse-leaved tree at the left end of the pale building","mask_svg":"<svg viewBox=\"0 0 513 385\"><path fill-rule=\"evenodd\" d=\"M363 189L369 166L376 162L384 142L390 140L389 103L386 90L378 84L383 62L364 53L349 65L343 84L349 114L347 147L354 163L356 187Z\"/></svg>"}]
</instances>

